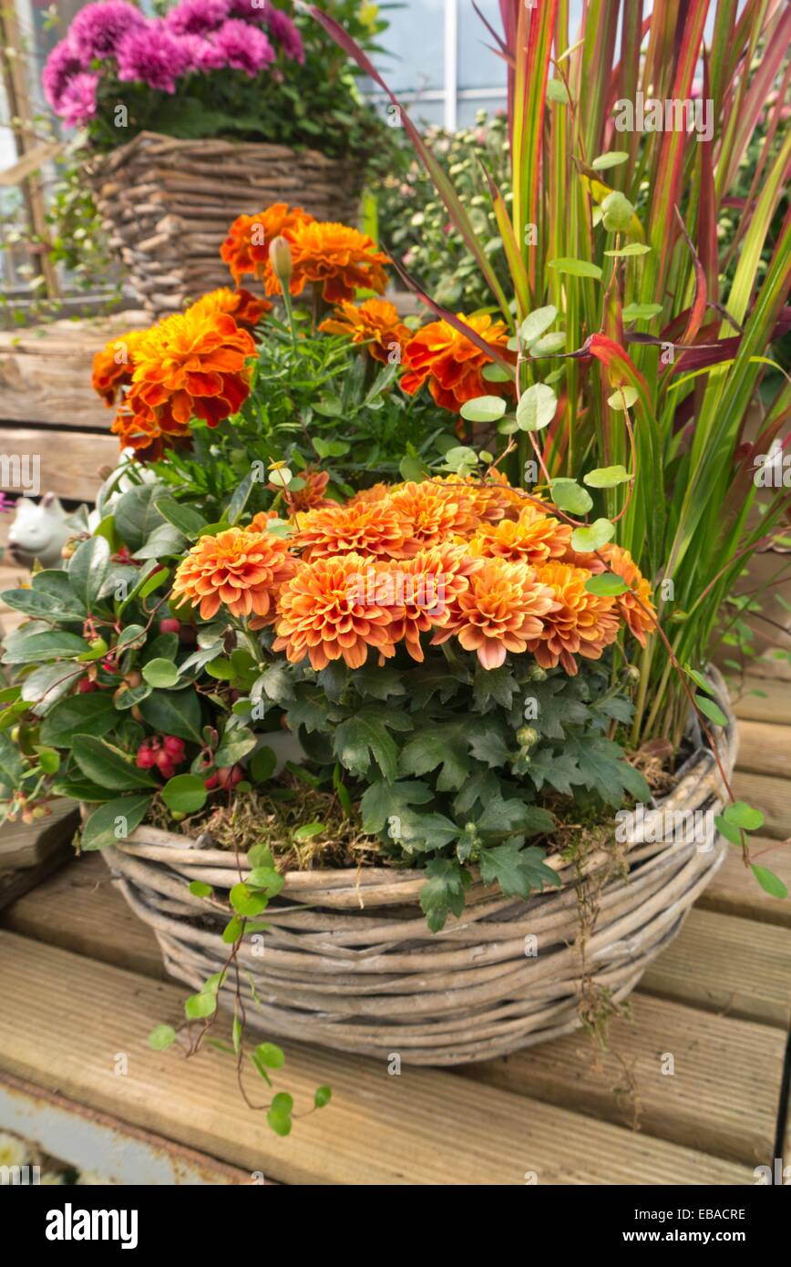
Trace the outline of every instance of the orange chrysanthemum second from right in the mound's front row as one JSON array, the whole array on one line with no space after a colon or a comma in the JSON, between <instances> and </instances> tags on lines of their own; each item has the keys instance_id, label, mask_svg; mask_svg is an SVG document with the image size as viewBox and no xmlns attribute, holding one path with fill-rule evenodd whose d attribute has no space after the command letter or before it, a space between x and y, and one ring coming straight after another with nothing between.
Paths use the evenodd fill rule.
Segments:
<instances>
[{"instance_id":1,"label":"orange chrysanthemum second from right in the mound's front row","mask_svg":"<svg viewBox=\"0 0 791 1267\"><path fill-rule=\"evenodd\" d=\"M598 660L606 646L615 642L620 621L614 598L603 598L587 592L591 573L583 568L551 563L536 570L537 579L548 585L559 607L544 617L544 630L527 644L543 669L554 669L559 663L569 677L577 674L574 655Z\"/></svg>"}]
</instances>

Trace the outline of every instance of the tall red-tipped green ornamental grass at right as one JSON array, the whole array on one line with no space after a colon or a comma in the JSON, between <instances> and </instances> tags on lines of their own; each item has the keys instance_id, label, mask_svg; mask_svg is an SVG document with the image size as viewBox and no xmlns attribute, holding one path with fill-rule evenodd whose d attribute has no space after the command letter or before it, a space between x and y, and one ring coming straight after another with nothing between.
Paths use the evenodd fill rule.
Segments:
<instances>
[{"instance_id":1,"label":"tall red-tipped green ornamental grass at right","mask_svg":"<svg viewBox=\"0 0 791 1267\"><path fill-rule=\"evenodd\" d=\"M486 172L480 191L497 217L510 295L492 280L484 243L407 111L338 24L312 13L399 105L512 332L531 312L558 309L564 348L532 357L520 347L520 393L556 375L559 398L540 442L520 435L520 461L535 451L544 480L629 469L629 481L596 494L589 519L606 514L652 578L668 640L654 635L643 655L633 739L662 734L678 742L690 682L673 672L669 647L679 665L702 669L735 580L757 549L780 537L788 509L790 493L780 488L757 514L754 474L791 417L788 378L771 350L790 324L791 136L783 139L781 123L791 9L780 0L747 0L740 13L736 0L655 0L648 11L643 0L586 0L572 32L569 0L499 8L502 32L486 23L482 38L508 80L511 212ZM711 111L700 134L615 128L616 103L638 94L678 103L693 92ZM731 242L720 247L717 223L758 132L756 177ZM633 435L624 409L614 408L624 404L621 388L631 388ZM758 423L747 442L750 407Z\"/></svg>"}]
</instances>

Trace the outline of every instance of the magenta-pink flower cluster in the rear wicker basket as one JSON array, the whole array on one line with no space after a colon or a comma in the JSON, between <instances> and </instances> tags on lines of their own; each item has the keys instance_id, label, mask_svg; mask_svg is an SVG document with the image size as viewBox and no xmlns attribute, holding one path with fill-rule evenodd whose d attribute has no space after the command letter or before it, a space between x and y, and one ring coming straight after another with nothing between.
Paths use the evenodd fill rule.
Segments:
<instances>
[{"instance_id":1,"label":"magenta-pink flower cluster in the rear wicker basket","mask_svg":"<svg viewBox=\"0 0 791 1267\"><path fill-rule=\"evenodd\" d=\"M96 114L103 75L172 94L186 75L232 70L255 79L276 60L304 62L297 27L271 0L181 0L165 18L146 18L128 0L81 9L42 75L47 101L65 123Z\"/></svg>"}]
</instances>

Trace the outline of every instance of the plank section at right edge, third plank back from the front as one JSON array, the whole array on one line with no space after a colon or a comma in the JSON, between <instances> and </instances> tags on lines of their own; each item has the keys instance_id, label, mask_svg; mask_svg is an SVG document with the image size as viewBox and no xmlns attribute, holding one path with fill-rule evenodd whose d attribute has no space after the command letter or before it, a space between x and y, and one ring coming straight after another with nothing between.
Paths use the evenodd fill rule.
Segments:
<instances>
[{"instance_id":1,"label":"plank section at right edge, third plank back from the front","mask_svg":"<svg viewBox=\"0 0 791 1267\"><path fill-rule=\"evenodd\" d=\"M649 964L640 990L704 1011L787 1029L791 933L692 910L681 934Z\"/></svg>"}]
</instances>

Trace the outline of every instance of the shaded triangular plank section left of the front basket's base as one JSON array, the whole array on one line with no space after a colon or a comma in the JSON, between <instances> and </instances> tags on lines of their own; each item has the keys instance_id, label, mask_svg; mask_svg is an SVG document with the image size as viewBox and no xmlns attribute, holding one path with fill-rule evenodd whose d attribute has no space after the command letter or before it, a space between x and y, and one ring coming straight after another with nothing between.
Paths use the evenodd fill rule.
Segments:
<instances>
[{"instance_id":1,"label":"shaded triangular plank section left of the front basket's base","mask_svg":"<svg viewBox=\"0 0 791 1267\"><path fill-rule=\"evenodd\" d=\"M133 915L98 854L61 868L8 907L1 922L63 950L166 979L157 939Z\"/></svg>"}]
</instances>

